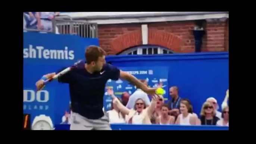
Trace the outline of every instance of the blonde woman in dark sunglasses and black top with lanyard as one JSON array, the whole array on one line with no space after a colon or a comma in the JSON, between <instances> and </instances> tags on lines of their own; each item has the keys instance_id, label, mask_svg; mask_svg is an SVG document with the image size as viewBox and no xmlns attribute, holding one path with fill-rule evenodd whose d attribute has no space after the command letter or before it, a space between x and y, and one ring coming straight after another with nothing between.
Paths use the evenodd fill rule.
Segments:
<instances>
[{"instance_id":1,"label":"blonde woman in dark sunglasses and black top with lanyard","mask_svg":"<svg viewBox=\"0 0 256 144\"><path fill-rule=\"evenodd\" d=\"M213 104L208 101L203 104L200 115L201 125L216 125L219 120L219 118L215 116L216 113Z\"/></svg>"}]
</instances>

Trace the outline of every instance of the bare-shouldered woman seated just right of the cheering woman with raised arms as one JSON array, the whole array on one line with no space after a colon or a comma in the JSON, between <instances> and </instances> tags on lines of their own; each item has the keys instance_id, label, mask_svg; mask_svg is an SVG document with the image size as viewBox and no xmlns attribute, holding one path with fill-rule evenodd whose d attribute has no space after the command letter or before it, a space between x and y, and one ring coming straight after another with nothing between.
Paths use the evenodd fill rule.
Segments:
<instances>
[{"instance_id":1,"label":"bare-shouldered woman seated just right of the cheering woman with raised arms","mask_svg":"<svg viewBox=\"0 0 256 144\"><path fill-rule=\"evenodd\" d=\"M160 116L156 118L156 124L172 125L175 123L175 117L168 115L168 107L168 104L163 104L163 106L161 106L161 113Z\"/></svg>"}]
</instances>

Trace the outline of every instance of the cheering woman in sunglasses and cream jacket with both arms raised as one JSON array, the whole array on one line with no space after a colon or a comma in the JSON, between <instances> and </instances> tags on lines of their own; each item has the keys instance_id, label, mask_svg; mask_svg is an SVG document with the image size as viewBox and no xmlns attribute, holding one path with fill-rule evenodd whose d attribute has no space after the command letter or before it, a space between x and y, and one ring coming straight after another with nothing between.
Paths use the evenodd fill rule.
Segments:
<instances>
[{"instance_id":1,"label":"cheering woman in sunglasses and cream jacket with both arms raised","mask_svg":"<svg viewBox=\"0 0 256 144\"><path fill-rule=\"evenodd\" d=\"M108 90L109 91L109 90ZM138 98L135 101L135 105L133 109L128 109L125 107L119 100L118 98L115 97L114 94L111 95L113 98L113 103L116 104L118 109L127 115L127 123L132 123L132 124L151 124L150 122L150 116L152 115L154 108L156 107L156 101L159 98L159 96L154 95L152 97L152 101L148 107L146 107L145 102L141 99Z\"/></svg>"}]
</instances>

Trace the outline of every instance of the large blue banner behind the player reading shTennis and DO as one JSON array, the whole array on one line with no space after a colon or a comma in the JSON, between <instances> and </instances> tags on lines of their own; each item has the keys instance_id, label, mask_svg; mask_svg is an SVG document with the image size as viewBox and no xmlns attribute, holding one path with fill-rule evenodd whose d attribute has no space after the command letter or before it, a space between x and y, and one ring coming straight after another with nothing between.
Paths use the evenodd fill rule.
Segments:
<instances>
[{"instance_id":1,"label":"large blue banner behind the player reading shTennis and DO","mask_svg":"<svg viewBox=\"0 0 256 144\"><path fill-rule=\"evenodd\" d=\"M36 92L35 82L46 73L57 72L62 67L73 65L78 59L84 59L85 48L99 46L99 40L75 35L24 32L23 41L24 113L31 114L31 123L35 116L42 114L50 116L54 124L60 123L69 108L68 84L54 81Z\"/></svg>"}]
</instances>

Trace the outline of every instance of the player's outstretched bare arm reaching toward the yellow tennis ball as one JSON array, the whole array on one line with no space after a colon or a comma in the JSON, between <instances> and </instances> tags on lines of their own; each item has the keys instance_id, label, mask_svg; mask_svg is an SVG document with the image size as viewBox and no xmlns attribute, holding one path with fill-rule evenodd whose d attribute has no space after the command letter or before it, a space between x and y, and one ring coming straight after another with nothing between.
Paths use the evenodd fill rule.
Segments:
<instances>
[{"instance_id":1,"label":"player's outstretched bare arm reaching toward the yellow tennis ball","mask_svg":"<svg viewBox=\"0 0 256 144\"><path fill-rule=\"evenodd\" d=\"M157 88L147 87L147 85L143 84L140 80L135 78L135 76L129 73L120 70L120 78L129 81L131 84L135 85L137 88L140 88L147 94L154 95L156 93Z\"/></svg>"}]
</instances>

